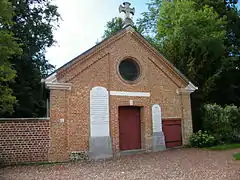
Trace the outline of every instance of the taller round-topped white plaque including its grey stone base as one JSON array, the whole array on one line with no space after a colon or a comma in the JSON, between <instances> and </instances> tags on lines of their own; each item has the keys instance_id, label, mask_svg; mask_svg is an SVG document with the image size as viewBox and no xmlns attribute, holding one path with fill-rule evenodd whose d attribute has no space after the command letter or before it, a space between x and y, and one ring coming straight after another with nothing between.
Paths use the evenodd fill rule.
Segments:
<instances>
[{"instance_id":1,"label":"taller round-topped white plaque including its grey stone base","mask_svg":"<svg viewBox=\"0 0 240 180\"><path fill-rule=\"evenodd\" d=\"M106 159L113 156L109 133L109 93L104 87L90 91L89 159Z\"/></svg>"}]
</instances>

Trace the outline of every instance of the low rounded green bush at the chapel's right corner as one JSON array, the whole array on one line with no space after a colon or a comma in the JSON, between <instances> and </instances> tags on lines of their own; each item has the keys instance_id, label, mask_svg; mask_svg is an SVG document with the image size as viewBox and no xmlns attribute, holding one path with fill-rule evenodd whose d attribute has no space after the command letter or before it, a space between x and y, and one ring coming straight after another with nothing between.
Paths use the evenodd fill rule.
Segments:
<instances>
[{"instance_id":1,"label":"low rounded green bush at the chapel's right corner","mask_svg":"<svg viewBox=\"0 0 240 180\"><path fill-rule=\"evenodd\" d=\"M217 143L214 136L207 133L207 131L201 131L192 134L190 137L190 146L192 147L211 147Z\"/></svg>"}]
</instances>

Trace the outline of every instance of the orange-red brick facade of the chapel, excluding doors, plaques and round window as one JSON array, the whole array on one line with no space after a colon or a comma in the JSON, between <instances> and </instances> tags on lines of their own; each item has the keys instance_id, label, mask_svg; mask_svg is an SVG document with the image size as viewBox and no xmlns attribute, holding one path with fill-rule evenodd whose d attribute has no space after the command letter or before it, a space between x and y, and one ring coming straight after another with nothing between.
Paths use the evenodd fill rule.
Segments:
<instances>
[{"instance_id":1,"label":"orange-red brick facade of the chapel, excluding doors, plaques and round window","mask_svg":"<svg viewBox=\"0 0 240 180\"><path fill-rule=\"evenodd\" d=\"M119 63L134 59L140 66L135 83L124 82ZM141 107L142 148L152 148L153 104L162 108L163 118L182 122L183 144L192 133L189 82L164 57L131 28L124 29L100 45L60 68L46 80L50 88L51 143L49 161L69 160L71 153L85 154L90 136L90 90L102 86L109 92L149 92L150 97L109 96L110 136L114 155L119 155L118 107ZM194 88L193 88L194 89ZM64 120L64 121L61 121Z\"/></svg>"}]
</instances>

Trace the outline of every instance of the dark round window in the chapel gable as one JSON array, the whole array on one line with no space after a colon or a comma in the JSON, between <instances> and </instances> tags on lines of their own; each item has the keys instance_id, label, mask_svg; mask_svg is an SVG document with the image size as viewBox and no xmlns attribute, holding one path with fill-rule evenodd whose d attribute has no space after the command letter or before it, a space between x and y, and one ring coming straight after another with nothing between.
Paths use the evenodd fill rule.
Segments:
<instances>
[{"instance_id":1,"label":"dark round window in the chapel gable","mask_svg":"<svg viewBox=\"0 0 240 180\"><path fill-rule=\"evenodd\" d=\"M132 59L125 59L119 64L119 73L126 81L135 81L140 75L139 65Z\"/></svg>"}]
</instances>

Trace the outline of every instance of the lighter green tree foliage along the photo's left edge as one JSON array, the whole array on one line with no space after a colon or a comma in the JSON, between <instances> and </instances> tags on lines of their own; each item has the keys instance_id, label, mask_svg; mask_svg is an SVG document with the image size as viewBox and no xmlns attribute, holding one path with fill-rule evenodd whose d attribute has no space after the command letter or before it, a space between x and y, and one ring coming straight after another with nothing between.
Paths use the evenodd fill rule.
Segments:
<instances>
[{"instance_id":1,"label":"lighter green tree foliage along the photo's left edge","mask_svg":"<svg viewBox=\"0 0 240 180\"><path fill-rule=\"evenodd\" d=\"M7 0L0 1L0 114L13 113L16 97L12 95L9 82L13 81L16 72L12 69L9 57L21 53L13 33L9 31L12 23L13 9Z\"/></svg>"}]
</instances>

